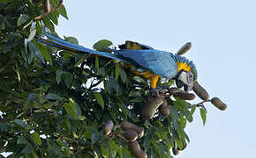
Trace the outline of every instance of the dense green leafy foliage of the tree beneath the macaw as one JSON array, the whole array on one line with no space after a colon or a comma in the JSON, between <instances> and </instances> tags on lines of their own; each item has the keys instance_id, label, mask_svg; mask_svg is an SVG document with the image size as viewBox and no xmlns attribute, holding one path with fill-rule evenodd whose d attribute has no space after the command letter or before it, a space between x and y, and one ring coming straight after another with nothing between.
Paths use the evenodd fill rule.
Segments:
<instances>
[{"instance_id":1,"label":"dense green leafy foliage of the tree beneath the macaw","mask_svg":"<svg viewBox=\"0 0 256 158\"><path fill-rule=\"evenodd\" d=\"M0 1L1 152L11 152L9 157L131 157L125 140L104 136L102 126L109 119L115 126L123 120L143 126L138 141L149 157L171 157L175 144L183 148L189 142L184 128L196 105L169 97L168 117L157 111L152 119L142 118L147 81L122 62L37 42L35 35L44 28L56 33L58 18L67 18L64 5L34 20L42 13L41 1ZM73 37L65 40L78 44ZM94 48L111 45L104 39ZM200 113L205 123L205 111Z\"/></svg>"}]
</instances>

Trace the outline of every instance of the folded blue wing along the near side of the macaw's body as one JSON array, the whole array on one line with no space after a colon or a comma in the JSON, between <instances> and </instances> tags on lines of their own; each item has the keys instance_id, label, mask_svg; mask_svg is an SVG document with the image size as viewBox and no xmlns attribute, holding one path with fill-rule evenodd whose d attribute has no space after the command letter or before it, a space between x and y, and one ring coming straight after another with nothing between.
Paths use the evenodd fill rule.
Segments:
<instances>
[{"instance_id":1,"label":"folded blue wing along the near side of the macaw's body","mask_svg":"<svg viewBox=\"0 0 256 158\"><path fill-rule=\"evenodd\" d=\"M147 68L156 75L173 78L177 75L177 63L173 54L155 49L115 51L127 61L132 61L143 68Z\"/></svg>"}]
</instances>

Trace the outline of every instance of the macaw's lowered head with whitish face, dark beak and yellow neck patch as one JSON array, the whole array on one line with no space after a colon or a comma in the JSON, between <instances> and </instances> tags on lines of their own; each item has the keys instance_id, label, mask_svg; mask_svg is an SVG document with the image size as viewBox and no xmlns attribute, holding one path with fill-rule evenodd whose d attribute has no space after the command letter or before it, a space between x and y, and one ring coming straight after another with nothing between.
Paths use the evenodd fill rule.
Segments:
<instances>
[{"instance_id":1,"label":"macaw's lowered head with whitish face, dark beak and yellow neck patch","mask_svg":"<svg viewBox=\"0 0 256 158\"><path fill-rule=\"evenodd\" d=\"M192 90L193 83L197 81L198 73L192 61L176 55L177 75L175 77L177 88L184 87L185 92Z\"/></svg>"}]
</instances>

